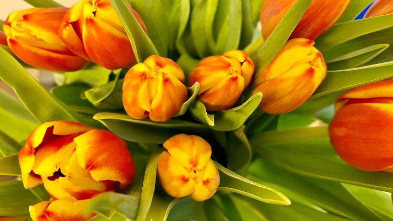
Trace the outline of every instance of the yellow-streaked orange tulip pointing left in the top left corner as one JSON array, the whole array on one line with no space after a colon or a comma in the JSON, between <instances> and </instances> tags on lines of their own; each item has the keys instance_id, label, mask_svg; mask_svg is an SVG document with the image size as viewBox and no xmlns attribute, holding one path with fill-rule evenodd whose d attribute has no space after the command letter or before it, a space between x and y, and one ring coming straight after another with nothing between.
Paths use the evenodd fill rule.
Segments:
<instances>
[{"instance_id":1,"label":"yellow-streaked orange tulip pointing left in the top left corner","mask_svg":"<svg viewBox=\"0 0 393 221\"><path fill-rule=\"evenodd\" d=\"M73 54L58 36L67 10L32 8L11 13L4 21L3 30L12 52L40 69L62 72L83 68L88 61Z\"/></svg>"}]
</instances>

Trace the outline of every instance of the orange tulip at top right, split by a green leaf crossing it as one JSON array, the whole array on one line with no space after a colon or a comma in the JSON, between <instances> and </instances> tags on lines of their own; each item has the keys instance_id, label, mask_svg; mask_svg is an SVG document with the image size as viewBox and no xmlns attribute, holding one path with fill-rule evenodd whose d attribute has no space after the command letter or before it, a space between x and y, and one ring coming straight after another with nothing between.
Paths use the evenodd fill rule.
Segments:
<instances>
[{"instance_id":1,"label":"orange tulip at top right, split by a green leaf crossing it","mask_svg":"<svg viewBox=\"0 0 393 221\"><path fill-rule=\"evenodd\" d=\"M297 0L265 0L260 9L262 35L268 38L282 17ZM345 11L351 0L314 0L290 38L316 39L329 30Z\"/></svg>"}]
</instances>

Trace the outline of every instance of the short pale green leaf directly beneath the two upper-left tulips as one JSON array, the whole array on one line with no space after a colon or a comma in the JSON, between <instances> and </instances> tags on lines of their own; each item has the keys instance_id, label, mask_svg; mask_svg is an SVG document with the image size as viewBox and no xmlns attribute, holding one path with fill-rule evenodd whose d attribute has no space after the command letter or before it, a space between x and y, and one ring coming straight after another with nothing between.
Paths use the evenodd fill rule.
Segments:
<instances>
[{"instance_id":1,"label":"short pale green leaf directly beneath the two upper-left tulips","mask_svg":"<svg viewBox=\"0 0 393 221\"><path fill-rule=\"evenodd\" d=\"M54 77L58 85L83 82L91 86L99 86L108 82L110 74L111 70L92 63L87 68L79 71L64 72L63 74L55 73Z\"/></svg>"}]
</instances>

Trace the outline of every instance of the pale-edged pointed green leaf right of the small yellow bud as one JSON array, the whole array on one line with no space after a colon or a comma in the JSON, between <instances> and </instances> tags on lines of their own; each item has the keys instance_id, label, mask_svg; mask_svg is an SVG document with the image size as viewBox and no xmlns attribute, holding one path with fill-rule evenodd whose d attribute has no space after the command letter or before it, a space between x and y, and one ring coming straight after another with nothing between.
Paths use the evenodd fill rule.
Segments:
<instances>
[{"instance_id":1,"label":"pale-edged pointed green leaf right of the small yellow bud","mask_svg":"<svg viewBox=\"0 0 393 221\"><path fill-rule=\"evenodd\" d=\"M289 205L291 201L282 193L270 187L260 185L231 170L215 163L220 172L220 186L217 190L238 193L254 200L278 205Z\"/></svg>"}]
</instances>

